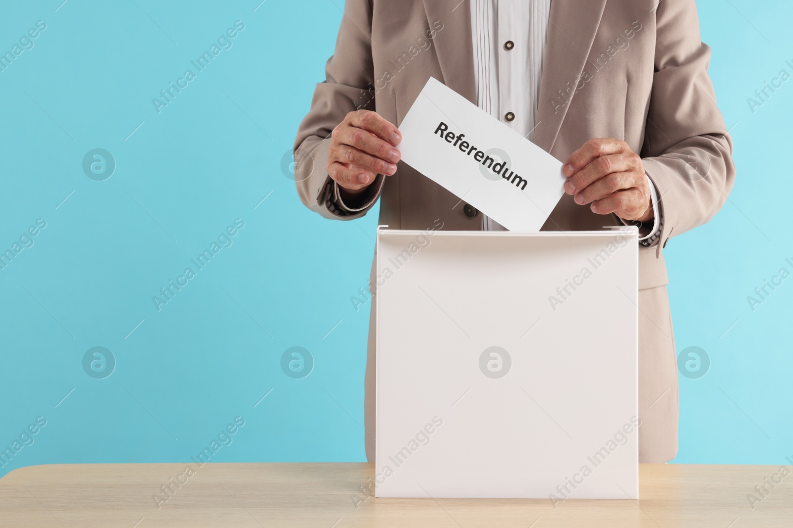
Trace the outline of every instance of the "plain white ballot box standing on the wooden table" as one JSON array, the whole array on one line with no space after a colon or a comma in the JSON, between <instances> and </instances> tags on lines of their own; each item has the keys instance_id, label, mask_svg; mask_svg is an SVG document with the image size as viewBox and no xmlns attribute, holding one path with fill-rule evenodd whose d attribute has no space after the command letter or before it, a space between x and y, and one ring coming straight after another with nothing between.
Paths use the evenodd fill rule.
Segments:
<instances>
[{"instance_id":1,"label":"plain white ballot box standing on the wooden table","mask_svg":"<svg viewBox=\"0 0 793 528\"><path fill-rule=\"evenodd\" d=\"M638 231L377 230L378 497L638 498Z\"/></svg>"}]
</instances>

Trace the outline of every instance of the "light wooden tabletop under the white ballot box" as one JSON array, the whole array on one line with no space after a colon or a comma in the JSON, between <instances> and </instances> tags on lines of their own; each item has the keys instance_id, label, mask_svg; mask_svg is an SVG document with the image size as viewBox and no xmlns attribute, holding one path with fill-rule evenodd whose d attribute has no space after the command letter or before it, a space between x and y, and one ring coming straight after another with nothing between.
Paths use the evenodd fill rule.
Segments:
<instances>
[{"instance_id":1,"label":"light wooden tabletop under the white ballot box","mask_svg":"<svg viewBox=\"0 0 793 528\"><path fill-rule=\"evenodd\" d=\"M0 526L793 526L793 474L754 508L747 499L777 473L771 465L642 465L640 500L556 509L549 500L367 498L369 464L191 466L192 475L186 464L16 469L0 479Z\"/></svg>"}]
</instances>

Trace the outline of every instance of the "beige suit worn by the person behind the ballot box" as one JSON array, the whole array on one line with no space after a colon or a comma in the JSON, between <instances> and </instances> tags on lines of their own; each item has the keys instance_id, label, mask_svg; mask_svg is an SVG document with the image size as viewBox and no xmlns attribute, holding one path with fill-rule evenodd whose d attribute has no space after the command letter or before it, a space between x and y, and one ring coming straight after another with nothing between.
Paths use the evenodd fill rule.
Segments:
<instances>
[{"instance_id":1,"label":"beige suit worn by the person behind the ballot box","mask_svg":"<svg viewBox=\"0 0 793 528\"><path fill-rule=\"evenodd\" d=\"M695 0L553 0L534 142L564 160L588 139L623 139L641 154L661 197L660 242L639 251L639 450L665 462L677 450L677 371L661 249L707 222L732 188L732 142L707 74ZM301 201L327 218L366 214L397 229L479 230L465 203L410 166L378 176L366 205L346 211L328 177L328 143L347 112L400 123L430 76L476 104L470 9L460 0L347 0L326 79L295 141ZM469 210L470 213L470 210ZM565 195L544 230L617 225ZM373 292L374 293L374 292ZM374 302L371 303L374 307ZM367 456L374 439L374 316L366 379Z\"/></svg>"}]
</instances>

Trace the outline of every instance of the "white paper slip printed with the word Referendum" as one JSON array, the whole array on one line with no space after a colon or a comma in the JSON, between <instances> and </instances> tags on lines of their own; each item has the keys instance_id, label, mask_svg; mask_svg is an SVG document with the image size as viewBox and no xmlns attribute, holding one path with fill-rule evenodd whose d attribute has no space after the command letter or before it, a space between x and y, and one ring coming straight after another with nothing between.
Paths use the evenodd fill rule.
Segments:
<instances>
[{"instance_id":1,"label":"white paper slip printed with the word Referendum","mask_svg":"<svg viewBox=\"0 0 793 528\"><path fill-rule=\"evenodd\" d=\"M400 123L402 160L511 231L539 231L564 194L561 161L430 78Z\"/></svg>"}]
</instances>

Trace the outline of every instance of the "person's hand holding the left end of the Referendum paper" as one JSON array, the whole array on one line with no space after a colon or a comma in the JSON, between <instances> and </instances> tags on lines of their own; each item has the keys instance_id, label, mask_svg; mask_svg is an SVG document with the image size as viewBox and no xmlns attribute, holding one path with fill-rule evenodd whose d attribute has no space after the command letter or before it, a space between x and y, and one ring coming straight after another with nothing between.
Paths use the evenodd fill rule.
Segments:
<instances>
[{"instance_id":1,"label":"person's hand holding the left end of the Referendum paper","mask_svg":"<svg viewBox=\"0 0 793 528\"><path fill-rule=\"evenodd\" d=\"M377 112L350 112L331 132L328 174L347 196L361 194L377 177L397 172L402 141L397 127Z\"/></svg>"}]
</instances>

